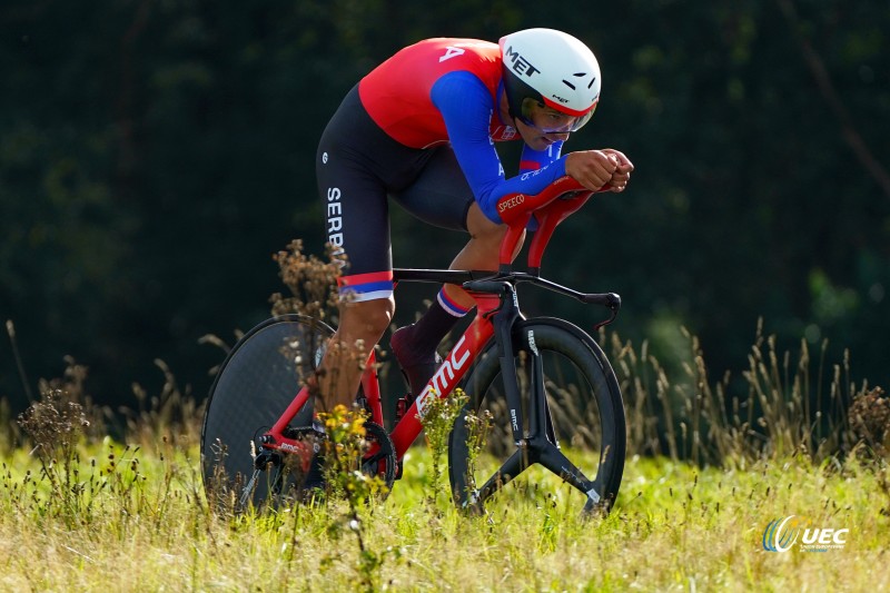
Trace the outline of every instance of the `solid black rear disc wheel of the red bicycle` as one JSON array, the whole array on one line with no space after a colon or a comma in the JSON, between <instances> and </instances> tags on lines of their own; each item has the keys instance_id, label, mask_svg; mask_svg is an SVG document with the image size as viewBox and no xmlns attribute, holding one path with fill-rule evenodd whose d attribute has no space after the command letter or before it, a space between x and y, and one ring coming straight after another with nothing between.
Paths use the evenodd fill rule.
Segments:
<instances>
[{"instance_id":1,"label":"solid black rear disc wheel of the red bicycle","mask_svg":"<svg viewBox=\"0 0 890 593\"><path fill-rule=\"evenodd\" d=\"M254 474L256 438L268 431L287 408L322 359L334 330L323 322L290 314L267 319L233 347L210 387L201 427L201 467L206 492L230 504ZM293 426L312 424L309 402ZM293 477L273 487L276 476L263 472L253 490L254 505L286 493Z\"/></svg>"}]
</instances>

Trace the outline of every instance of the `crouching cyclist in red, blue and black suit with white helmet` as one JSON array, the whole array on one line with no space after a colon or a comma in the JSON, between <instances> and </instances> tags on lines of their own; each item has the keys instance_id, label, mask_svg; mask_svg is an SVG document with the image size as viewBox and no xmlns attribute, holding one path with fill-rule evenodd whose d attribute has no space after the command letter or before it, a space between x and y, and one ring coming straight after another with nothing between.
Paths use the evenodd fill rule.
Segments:
<instances>
[{"instance_id":1,"label":"crouching cyclist in red, blue and black suit with white helmet","mask_svg":"<svg viewBox=\"0 0 890 593\"><path fill-rule=\"evenodd\" d=\"M589 189L623 191L633 165L614 149L561 156L593 116L600 67L576 38L527 29L498 43L427 39L364 77L328 122L317 152L328 241L345 253L339 327L322 364L323 405L350 405L362 366L345 352L373 347L395 312L389 198L421 220L469 235L453 269L496 269L506 231L498 201L537 194L563 176ZM507 176L494 142L524 142L520 174ZM506 197L506 198L505 198ZM474 306L444 286L390 347L414 396L432 377L436 347ZM359 356L360 357L360 356Z\"/></svg>"}]
</instances>

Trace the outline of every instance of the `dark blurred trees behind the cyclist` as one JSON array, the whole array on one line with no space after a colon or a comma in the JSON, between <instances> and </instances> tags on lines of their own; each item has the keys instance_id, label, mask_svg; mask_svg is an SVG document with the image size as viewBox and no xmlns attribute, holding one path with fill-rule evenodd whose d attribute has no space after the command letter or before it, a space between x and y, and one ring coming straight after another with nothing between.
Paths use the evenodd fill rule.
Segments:
<instances>
[{"instance_id":1,"label":"dark blurred trees behind the cyclist","mask_svg":"<svg viewBox=\"0 0 890 593\"><path fill-rule=\"evenodd\" d=\"M346 91L422 38L537 26L603 71L566 150L636 165L566 223L545 273L621 293L615 330L669 363L685 326L714 374L738 373L762 317L785 348L828 339L853 380L890 384L887 1L8 0L0 317L28 378L4 339L0 397L20 409L71 355L100 403L157 391L155 358L202 398L222 352L198 339L268 315L290 239L324 251L315 149ZM464 240L393 216L396 265L447 266Z\"/></svg>"}]
</instances>

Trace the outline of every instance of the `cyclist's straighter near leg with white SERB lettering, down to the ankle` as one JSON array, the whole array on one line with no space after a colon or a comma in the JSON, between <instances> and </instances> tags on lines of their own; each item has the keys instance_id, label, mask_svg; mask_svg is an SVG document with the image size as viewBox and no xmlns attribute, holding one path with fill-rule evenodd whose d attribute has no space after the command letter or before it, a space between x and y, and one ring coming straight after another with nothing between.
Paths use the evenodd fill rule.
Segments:
<instances>
[{"instance_id":1,"label":"cyclist's straighter near leg with white SERB lettering, down to the ankle","mask_svg":"<svg viewBox=\"0 0 890 593\"><path fill-rule=\"evenodd\" d=\"M395 310L388 195L408 187L434 155L387 136L362 106L357 86L322 136L316 158L328 243L345 253L340 319L322 366L324 404L350 404L365 354ZM360 343L364 353L356 353ZM359 360L355 360L358 358Z\"/></svg>"}]
</instances>

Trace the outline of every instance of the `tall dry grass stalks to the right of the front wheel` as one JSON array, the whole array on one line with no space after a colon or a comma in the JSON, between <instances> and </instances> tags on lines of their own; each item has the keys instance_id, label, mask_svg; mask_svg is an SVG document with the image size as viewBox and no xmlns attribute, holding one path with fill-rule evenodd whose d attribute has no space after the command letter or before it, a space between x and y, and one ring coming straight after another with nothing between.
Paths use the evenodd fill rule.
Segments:
<instances>
[{"instance_id":1,"label":"tall dry grass stalks to the right of the front wheel","mask_svg":"<svg viewBox=\"0 0 890 593\"><path fill-rule=\"evenodd\" d=\"M633 454L699 466L797 454L821 463L857 446L880 448L890 432L890 425L873 426L887 402L882 389L850 380L849 353L829 367L823 343L814 365L805 340L797 357L780 353L775 336L762 334L761 322L738 387L729 373L713 379L699 339L685 329L683 336L689 352L676 376L669 376L646 343L635 348L617 334L603 338L624 396ZM854 404L858 422L850 418Z\"/></svg>"}]
</instances>

